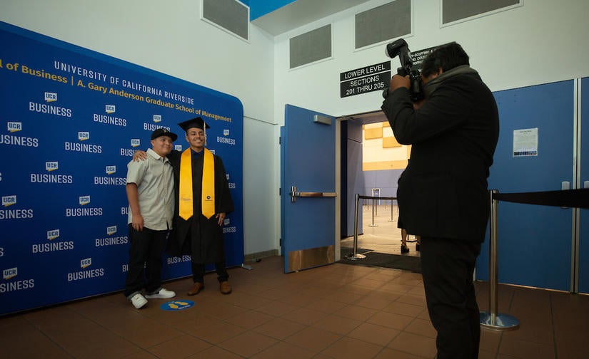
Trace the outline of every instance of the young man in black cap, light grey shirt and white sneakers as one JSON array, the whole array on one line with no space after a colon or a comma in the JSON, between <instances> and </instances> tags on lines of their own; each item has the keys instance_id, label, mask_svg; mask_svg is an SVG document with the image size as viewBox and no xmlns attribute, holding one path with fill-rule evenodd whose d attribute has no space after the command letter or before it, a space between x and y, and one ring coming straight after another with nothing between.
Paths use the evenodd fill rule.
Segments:
<instances>
[{"instance_id":1,"label":"young man in black cap, light grey shirt and white sneakers","mask_svg":"<svg viewBox=\"0 0 589 359\"><path fill-rule=\"evenodd\" d=\"M161 287L161 253L172 227L174 205L172 166L166 155L177 138L169 130L158 128L151 134L147 160L127 165L131 248L124 295L137 309L147 304L146 298L176 296ZM145 296L141 294L143 288Z\"/></svg>"}]
</instances>

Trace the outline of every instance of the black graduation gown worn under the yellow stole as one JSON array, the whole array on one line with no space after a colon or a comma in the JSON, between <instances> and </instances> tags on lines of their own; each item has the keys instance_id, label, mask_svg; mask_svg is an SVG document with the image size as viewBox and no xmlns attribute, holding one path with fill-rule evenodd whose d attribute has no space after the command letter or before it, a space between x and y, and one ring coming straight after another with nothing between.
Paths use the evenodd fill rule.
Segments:
<instances>
[{"instance_id":1,"label":"black graduation gown worn under the yellow stole","mask_svg":"<svg viewBox=\"0 0 589 359\"><path fill-rule=\"evenodd\" d=\"M192 154L192 192L193 216L185 220L178 216L178 195L180 188L180 159L182 152L173 150L168 159L173 167L176 203L174 204L173 230L168 239L166 252L171 256L189 254L196 263L219 263L225 261L223 229L218 219L206 219L201 214L201 194L203 178L203 155ZM215 161L215 213L233 211L233 200L225 167L221 157L213 155Z\"/></svg>"}]
</instances>

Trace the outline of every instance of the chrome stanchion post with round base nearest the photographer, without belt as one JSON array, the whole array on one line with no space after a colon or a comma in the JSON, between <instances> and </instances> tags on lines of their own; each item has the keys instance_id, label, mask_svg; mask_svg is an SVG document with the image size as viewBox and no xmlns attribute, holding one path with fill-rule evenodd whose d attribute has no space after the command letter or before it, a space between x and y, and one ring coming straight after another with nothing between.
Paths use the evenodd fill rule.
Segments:
<instances>
[{"instance_id":1,"label":"chrome stanchion post with round base nearest the photographer, without belt","mask_svg":"<svg viewBox=\"0 0 589 359\"><path fill-rule=\"evenodd\" d=\"M489 217L489 311L480 312L480 326L493 331L513 331L519 328L517 318L508 314L498 313L498 266L497 266L497 199L493 194L497 189L489 191L490 217Z\"/></svg>"}]
</instances>

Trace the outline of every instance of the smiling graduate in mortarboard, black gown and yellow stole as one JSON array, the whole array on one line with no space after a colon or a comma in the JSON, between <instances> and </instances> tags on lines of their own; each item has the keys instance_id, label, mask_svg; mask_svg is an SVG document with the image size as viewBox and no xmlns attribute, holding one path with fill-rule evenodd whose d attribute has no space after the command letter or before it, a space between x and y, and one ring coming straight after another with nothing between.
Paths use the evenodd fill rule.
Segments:
<instances>
[{"instance_id":1,"label":"smiling graduate in mortarboard, black gown and yellow stole","mask_svg":"<svg viewBox=\"0 0 589 359\"><path fill-rule=\"evenodd\" d=\"M193 285L188 296L204 288L205 264L214 263L219 291L231 293L225 266L223 221L233 211L225 167L218 155L205 147L208 124L200 117L178 125L186 132L189 148L168 155L174 172L176 206L173 231L167 252L171 256L191 256ZM137 151L134 159L144 157Z\"/></svg>"}]
</instances>

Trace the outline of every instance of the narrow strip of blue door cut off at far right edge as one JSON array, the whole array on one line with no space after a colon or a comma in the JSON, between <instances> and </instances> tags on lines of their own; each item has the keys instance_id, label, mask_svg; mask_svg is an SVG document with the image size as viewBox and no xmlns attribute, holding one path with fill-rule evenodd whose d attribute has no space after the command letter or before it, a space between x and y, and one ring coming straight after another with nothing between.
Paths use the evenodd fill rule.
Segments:
<instances>
[{"instance_id":1,"label":"narrow strip of blue door cut off at far right edge","mask_svg":"<svg viewBox=\"0 0 589 359\"><path fill-rule=\"evenodd\" d=\"M589 78L583 78L580 98L580 188L589 188ZM583 92L582 89L585 89ZM589 209L579 209L579 293L589 293Z\"/></svg>"}]
</instances>

